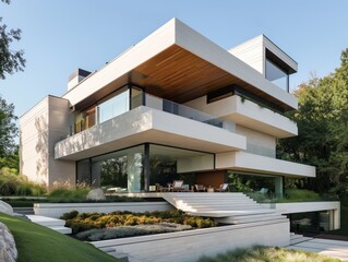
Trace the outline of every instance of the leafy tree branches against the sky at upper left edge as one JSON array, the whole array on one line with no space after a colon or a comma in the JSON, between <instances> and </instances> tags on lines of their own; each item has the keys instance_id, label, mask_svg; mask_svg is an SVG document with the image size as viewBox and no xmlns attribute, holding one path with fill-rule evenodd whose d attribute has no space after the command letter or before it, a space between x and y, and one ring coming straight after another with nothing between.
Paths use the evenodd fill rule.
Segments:
<instances>
[{"instance_id":1,"label":"leafy tree branches against the sky at upper left edge","mask_svg":"<svg viewBox=\"0 0 348 262\"><path fill-rule=\"evenodd\" d=\"M10 0L1 0L10 4ZM11 44L21 39L21 29L8 29L8 26L0 17L0 79L5 79L5 73L12 74L23 71L25 67L24 51L12 50Z\"/></svg>"}]
</instances>

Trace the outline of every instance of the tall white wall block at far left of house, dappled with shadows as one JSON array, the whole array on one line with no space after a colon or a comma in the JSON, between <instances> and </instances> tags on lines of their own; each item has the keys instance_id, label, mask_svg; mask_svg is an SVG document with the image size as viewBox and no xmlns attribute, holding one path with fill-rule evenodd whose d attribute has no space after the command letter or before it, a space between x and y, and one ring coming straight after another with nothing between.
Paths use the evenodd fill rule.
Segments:
<instances>
[{"instance_id":1,"label":"tall white wall block at far left of house, dappled with shadows","mask_svg":"<svg viewBox=\"0 0 348 262\"><path fill-rule=\"evenodd\" d=\"M57 162L55 144L69 133L69 103L47 96L20 118L21 174L45 183L75 184L75 164Z\"/></svg>"}]
</instances>

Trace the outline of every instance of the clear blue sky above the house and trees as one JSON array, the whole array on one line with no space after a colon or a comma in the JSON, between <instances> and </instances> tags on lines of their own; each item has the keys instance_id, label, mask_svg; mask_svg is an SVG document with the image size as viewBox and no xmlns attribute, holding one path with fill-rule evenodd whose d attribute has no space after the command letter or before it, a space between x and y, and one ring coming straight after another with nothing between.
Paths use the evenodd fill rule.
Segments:
<instances>
[{"instance_id":1,"label":"clear blue sky above the house and trees","mask_svg":"<svg viewBox=\"0 0 348 262\"><path fill-rule=\"evenodd\" d=\"M20 27L25 72L0 80L0 94L21 116L48 94L61 96L77 68L94 71L172 17L228 49L265 34L299 63L296 87L324 76L348 47L346 0L12 0L0 3Z\"/></svg>"}]
</instances>

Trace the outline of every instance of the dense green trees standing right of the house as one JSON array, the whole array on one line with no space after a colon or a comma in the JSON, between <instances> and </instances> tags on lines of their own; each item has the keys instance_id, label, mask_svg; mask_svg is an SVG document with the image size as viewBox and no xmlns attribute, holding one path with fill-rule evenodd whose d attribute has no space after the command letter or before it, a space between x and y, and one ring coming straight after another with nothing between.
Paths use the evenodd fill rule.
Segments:
<instances>
[{"instance_id":1,"label":"dense green trees standing right of the house","mask_svg":"<svg viewBox=\"0 0 348 262\"><path fill-rule=\"evenodd\" d=\"M299 109L289 116L299 135L278 143L280 158L316 166L316 179L305 180L304 187L339 195L348 184L348 48L340 61L334 73L296 90Z\"/></svg>"}]
</instances>

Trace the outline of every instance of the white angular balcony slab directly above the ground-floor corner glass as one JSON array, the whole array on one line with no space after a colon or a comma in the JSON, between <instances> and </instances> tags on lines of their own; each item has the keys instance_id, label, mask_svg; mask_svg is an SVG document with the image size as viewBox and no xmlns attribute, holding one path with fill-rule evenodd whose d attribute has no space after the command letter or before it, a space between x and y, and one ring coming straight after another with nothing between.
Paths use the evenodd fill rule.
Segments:
<instances>
[{"instance_id":1,"label":"white angular balcony slab directly above the ground-floor corner glass","mask_svg":"<svg viewBox=\"0 0 348 262\"><path fill-rule=\"evenodd\" d=\"M242 135L140 106L58 142L55 158L79 160L147 142L209 153L247 147Z\"/></svg>"}]
</instances>

